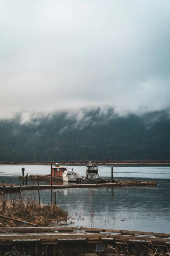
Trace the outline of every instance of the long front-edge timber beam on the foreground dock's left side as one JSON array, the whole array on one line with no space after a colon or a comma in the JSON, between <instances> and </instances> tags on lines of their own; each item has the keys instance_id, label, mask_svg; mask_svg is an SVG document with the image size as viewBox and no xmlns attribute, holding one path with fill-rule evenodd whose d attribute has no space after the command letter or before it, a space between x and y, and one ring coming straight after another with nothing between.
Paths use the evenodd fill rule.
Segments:
<instances>
[{"instance_id":1,"label":"long front-edge timber beam on the foreground dock's left side","mask_svg":"<svg viewBox=\"0 0 170 256\"><path fill-rule=\"evenodd\" d=\"M0 234L0 241L1 240L12 240L12 239L74 239L74 238L103 238L107 237L108 234L106 233L86 233L86 232L54 232L49 234L48 232L41 232L41 233L15 233L13 235L3 235Z\"/></svg>"}]
</instances>

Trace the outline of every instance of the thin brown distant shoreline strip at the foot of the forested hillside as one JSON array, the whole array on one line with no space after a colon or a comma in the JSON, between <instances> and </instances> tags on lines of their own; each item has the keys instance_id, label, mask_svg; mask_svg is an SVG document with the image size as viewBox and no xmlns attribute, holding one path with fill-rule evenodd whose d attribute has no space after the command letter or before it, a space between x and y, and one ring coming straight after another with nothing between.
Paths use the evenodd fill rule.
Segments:
<instances>
[{"instance_id":1,"label":"thin brown distant shoreline strip at the foot of the forested hillside","mask_svg":"<svg viewBox=\"0 0 170 256\"><path fill-rule=\"evenodd\" d=\"M49 165L51 164L51 162L0 162L0 165ZM55 162L52 162L52 164L54 165ZM71 162L59 162L59 165L71 165ZM89 161L83 161L83 162L72 162L72 165L87 165L89 164ZM140 161L140 160L136 160L136 161L130 161L130 160L126 160L126 161L113 161L113 162L102 162L102 161L92 161L92 164L95 165L116 165L116 164L121 164L121 165L130 165L130 164L170 164L170 160L169 161Z\"/></svg>"}]
</instances>

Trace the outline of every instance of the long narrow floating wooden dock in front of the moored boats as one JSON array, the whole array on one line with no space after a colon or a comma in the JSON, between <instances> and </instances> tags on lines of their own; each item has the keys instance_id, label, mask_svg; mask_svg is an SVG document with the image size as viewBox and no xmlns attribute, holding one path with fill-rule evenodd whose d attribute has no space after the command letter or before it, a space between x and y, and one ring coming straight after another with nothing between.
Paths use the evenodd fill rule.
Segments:
<instances>
[{"instance_id":1,"label":"long narrow floating wooden dock in front of the moored boats","mask_svg":"<svg viewBox=\"0 0 170 256\"><path fill-rule=\"evenodd\" d=\"M97 188L97 187L117 187L117 186L148 186L148 185L157 185L157 182L154 180L150 181L139 181L139 180L114 180L113 183L110 180L106 180L106 183L97 183L97 184L62 184L62 185L53 185L53 189L63 189L63 188ZM21 190L37 190L37 185L24 185L24 186L0 186L0 191L4 192L20 192ZM51 185L39 185L39 189L51 189Z\"/></svg>"}]
</instances>

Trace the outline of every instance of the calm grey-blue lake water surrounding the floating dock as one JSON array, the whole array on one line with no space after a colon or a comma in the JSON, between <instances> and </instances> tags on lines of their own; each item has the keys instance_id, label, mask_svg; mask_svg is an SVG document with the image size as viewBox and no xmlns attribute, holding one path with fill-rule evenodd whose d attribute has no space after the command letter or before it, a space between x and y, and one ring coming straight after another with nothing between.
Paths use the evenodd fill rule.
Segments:
<instances>
[{"instance_id":1,"label":"calm grey-blue lake water surrounding the floating dock","mask_svg":"<svg viewBox=\"0 0 170 256\"><path fill-rule=\"evenodd\" d=\"M50 165L0 165L0 181L19 184L21 167L25 167L25 173L28 172L28 175L50 173ZM85 175L85 166L73 166L73 170ZM110 166L99 166L98 170L100 176L111 177ZM72 225L153 232L170 231L170 165L114 166L114 178L152 179L157 181L157 186L114 187L108 188L108 191L106 188L54 190L57 194L57 204L68 210ZM28 184L33 184L33 181L28 181ZM37 191L35 194L37 196ZM50 190L41 190L41 202L50 202L50 195Z\"/></svg>"}]
</instances>

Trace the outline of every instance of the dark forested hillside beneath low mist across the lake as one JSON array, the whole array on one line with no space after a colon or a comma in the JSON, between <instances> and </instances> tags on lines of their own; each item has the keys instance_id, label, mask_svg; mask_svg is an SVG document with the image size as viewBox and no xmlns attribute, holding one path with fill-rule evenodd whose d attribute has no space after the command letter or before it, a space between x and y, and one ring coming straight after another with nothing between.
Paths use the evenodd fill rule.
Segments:
<instances>
[{"instance_id":1,"label":"dark forested hillside beneath low mist across the lake","mask_svg":"<svg viewBox=\"0 0 170 256\"><path fill-rule=\"evenodd\" d=\"M167 111L120 117L109 110L0 121L0 162L169 160Z\"/></svg>"}]
</instances>

